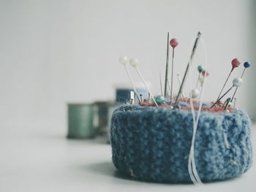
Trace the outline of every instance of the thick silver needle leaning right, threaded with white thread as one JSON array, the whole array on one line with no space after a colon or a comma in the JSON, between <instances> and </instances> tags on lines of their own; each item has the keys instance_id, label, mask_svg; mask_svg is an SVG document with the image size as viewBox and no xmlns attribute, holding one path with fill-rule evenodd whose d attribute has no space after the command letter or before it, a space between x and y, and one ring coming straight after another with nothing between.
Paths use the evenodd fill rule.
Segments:
<instances>
[{"instance_id":1,"label":"thick silver needle leaning right, threaded with white thread","mask_svg":"<svg viewBox=\"0 0 256 192\"><path fill-rule=\"evenodd\" d=\"M194 54L195 54L195 50L196 50L196 47L197 47L197 42L198 42L198 39L200 38L200 36L201 36L201 33L200 33L200 31L198 31L198 33L197 33L197 39L195 39L195 44L194 44L194 47L193 47L193 49L192 49L192 53L191 53L191 55L190 55L189 62L188 62L188 64L187 64L187 69L186 69L186 71L185 71L183 80L182 80L182 82L181 82L181 86L180 86L179 91L178 91L178 96L176 97L176 101L175 101L175 103L174 103L173 108L178 108L178 100L180 99L180 96L181 96L181 93L182 93L182 90L183 90L183 87L184 87L184 83L185 83L185 80L186 80L186 77L187 77L187 73L189 72L189 66L190 66L190 64L192 63L192 58L193 58L193 56L194 56Z\"/></svg>"}]
</instances>

